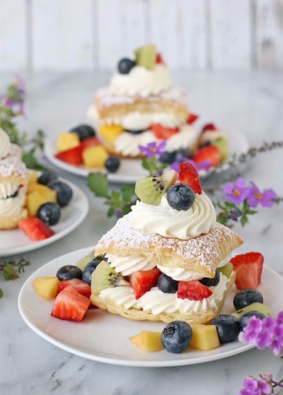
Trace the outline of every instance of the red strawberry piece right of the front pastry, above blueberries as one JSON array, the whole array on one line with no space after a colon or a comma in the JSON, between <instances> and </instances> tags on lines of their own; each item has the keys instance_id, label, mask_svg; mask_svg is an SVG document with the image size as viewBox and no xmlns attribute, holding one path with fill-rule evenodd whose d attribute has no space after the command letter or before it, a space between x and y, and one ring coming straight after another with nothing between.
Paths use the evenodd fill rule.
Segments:
<instances>
[{"instance_id":1,"label":"red strawberry piece right of the front pastry, above blueberries","mask_svg":"<svg viewBox=\"0 0 283 395\"><path fill-rule=\"evenodd\" d=\"M237 272L235 285L238 290L252 288L255 290L261 280L263 255L260 252L247 252L234 256L230 262Z\"/></svg>"}]
</instances>

